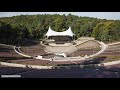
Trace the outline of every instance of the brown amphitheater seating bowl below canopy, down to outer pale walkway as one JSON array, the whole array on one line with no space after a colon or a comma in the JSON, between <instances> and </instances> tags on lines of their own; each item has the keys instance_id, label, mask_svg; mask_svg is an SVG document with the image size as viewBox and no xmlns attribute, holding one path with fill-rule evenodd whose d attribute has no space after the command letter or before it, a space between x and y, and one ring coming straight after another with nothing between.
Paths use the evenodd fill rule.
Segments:
<instances>
[{"instance_id":1,"label":"brown amphitheater seating bowl below canopy, down to outer pale walkway","mask_svg":"<svg viewBox=\"0 0 120 90\"><path fill-rule=\"evenodd\" d=\"M0 44L0 64L22 68L52 69L59 65L109 66L120 63L119 57L116 61L113 60L113 56L120 56L119 42L105 44L92 37L81 37L77 40L63 41L64 43L55 43L52 39L50 40L40 41L41 43L31 46Z\"/></svg>"}]
</instances>

